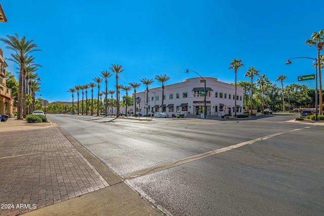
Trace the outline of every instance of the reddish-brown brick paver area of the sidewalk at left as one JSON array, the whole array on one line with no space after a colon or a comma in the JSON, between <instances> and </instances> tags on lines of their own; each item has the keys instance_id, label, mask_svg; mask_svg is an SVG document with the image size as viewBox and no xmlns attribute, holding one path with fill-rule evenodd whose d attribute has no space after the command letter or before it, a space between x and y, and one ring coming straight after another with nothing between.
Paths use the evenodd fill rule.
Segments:
<instances>
[{"instance_id":1,"label":"reddish-brown brick paver area of the sidewalk at left","mask_svg":"<svg viewBox=\"0 0 324 216\"><path fill-rule=\"evenodd\" d=\"M108 183L58 128L0 133L0 215L17 215Z\"/></svg>"}]
</instances>

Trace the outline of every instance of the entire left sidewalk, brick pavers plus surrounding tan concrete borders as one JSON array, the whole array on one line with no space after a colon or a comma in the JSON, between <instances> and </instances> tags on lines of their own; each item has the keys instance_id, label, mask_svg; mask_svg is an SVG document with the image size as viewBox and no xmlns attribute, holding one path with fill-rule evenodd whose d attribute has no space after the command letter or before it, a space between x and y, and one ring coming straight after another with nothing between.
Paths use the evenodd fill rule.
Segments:
<instances>
[{"instance_id":1,"label":"entire left sidewalk, brick pavers plus surrounding tan concrete borders","mask_svg":"<svg viewBox=\"0 0 324 216\"><path fill-rule=\"evenodd\" d=\"M0 122L0 215L164 215L55 123Z\"/></svg>"}]
</instances>

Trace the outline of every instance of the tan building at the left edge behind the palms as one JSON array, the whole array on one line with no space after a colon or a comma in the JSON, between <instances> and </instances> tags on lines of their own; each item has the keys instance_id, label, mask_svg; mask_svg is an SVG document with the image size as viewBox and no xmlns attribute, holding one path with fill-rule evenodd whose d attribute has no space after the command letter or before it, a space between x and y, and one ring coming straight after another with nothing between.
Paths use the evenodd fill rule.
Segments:
<instances>
[{"instance_id":1,"label":"tan building at the left edge behind the palms","mask_svg":"<svg viewBox=\"0 0 324 216\"><path fill-rule=\"evenodd\" d=\"M11 95L11 89L7 88L6 67L8 64L3 58L3 51L0 48L0 114L8 114L13 117L14 99Z\"/></svg>"}]
</instances>

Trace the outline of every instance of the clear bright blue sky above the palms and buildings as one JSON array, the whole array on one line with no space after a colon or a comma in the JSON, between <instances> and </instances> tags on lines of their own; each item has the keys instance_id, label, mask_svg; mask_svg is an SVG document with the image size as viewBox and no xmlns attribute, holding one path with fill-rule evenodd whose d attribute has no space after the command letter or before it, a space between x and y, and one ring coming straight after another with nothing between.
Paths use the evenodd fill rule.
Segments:
<instances>
[{"instance_id":1,"label":"clear bright blue sky above the palms and buildings","mask_svg":"<svg viewBox=\"0 0 324 216\"><path fill-rule=\"evenodd\" d=\"M237 80L255 66L272 83L287 76L284 85L305 84L315 89L315 80L298 82L300 75L314 74L310 59L317 49L305 45L320 26L322 15L307 1L0 1L7 23L0 23L0 37L18 33L34 40L42 52L32 55L43 67L39 94L50 102L71 101L69 88L86 84L111 64L125 69L118 83L167 74L166 84L181 82L196 74L234 82L229 63L245 65ZM4 58L11 51L0 47ZM7 61L17 79L18 65ZM113 89L114 75L108 79ZM101 87L104 84L102 83ZM154 82L150 88L159 87ZM137 92L143 91L142 85ZM103 89L102 89L103 90ZM95 91L94 91L95 92ZM121 91L121 95L123 95ZM89 94L90 95L90 94ZM96 95L96 94L95 94ZM37 96L37 95L36 95Z\"/></svg>"}]
</instances>

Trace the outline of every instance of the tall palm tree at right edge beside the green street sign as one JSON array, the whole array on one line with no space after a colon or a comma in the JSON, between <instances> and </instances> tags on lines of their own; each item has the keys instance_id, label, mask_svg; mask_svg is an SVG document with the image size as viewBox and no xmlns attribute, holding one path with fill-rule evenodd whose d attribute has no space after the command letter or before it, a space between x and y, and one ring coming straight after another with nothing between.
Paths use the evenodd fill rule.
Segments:
<instances>
[{"instance_id":1,"label":"tall palm tree at right edge beside the green street sign","mask_svg":"<svg viewBox=\"0 0 324 216\"><path fill-rule=\"evenodd\" d=\"M321 81L321 58L320 58L320 51L322 50L323 44L322 40L324 40L324 29L321 29L318 33L313 32L310 36L310 39L305 41L305 44L308 44L310 47L316 46L317 47L317 60L318 60L318 77L319 77L319 115L323 113L323 98L322 98L322 81Z\"/></svg>"}]
</instances>

